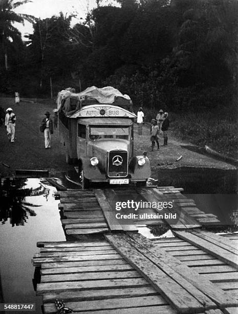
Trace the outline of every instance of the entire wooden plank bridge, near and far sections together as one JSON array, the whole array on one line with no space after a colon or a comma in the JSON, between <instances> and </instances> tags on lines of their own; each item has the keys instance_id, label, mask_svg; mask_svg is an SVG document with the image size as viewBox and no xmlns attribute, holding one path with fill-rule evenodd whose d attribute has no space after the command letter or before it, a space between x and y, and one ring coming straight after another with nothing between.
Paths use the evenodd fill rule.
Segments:
<instances>
[{"instance_id":1,"label":"entire wooden plank bridge, near and far sections together","mask_svg":"<svg viewBox=\"0 0 238 314\"><path fill-rule=\"evenodd\" d=\"M119 224L115 199L138 196L174 200L174 211L166 212L178 218ZM57 312L56 299L81 314L238 313L238 234L204 231L219 224L217 217L200 211L181 189L67 190L60 192L59 209L68 241L39 242L33 257L45 314ZM175 237L146 239L138 227L150 223L169 224Z\"/></svg>"}]
</instances>

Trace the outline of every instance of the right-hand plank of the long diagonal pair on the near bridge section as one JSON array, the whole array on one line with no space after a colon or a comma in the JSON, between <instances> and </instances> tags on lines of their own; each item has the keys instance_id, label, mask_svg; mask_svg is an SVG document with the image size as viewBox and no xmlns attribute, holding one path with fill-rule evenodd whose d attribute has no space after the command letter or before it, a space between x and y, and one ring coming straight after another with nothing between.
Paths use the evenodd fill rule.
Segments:
<instances>
[{"instance_id":1,"label":"right-hand plank of the long diagonal pair on the near bridge section","mask_svg":"<svg viewBox=\"0 0 238 314\"><path fill-rule=\"evenodd\" d=\"M137 250L148 257L150 261L156 263L156 265L169 274L171 278L183 285L192 296L204 304L205 309L209 307L212 308L214 305L213 302L222 307L238 305L238 301L234 302L233 298L226 295L224 291L216 288L205 277L201 278L201 275L196 271L180 263L174 257L171 257L164 249L158 250L158 247L153 242L143 237L143 235L129 234L129 237L131 237L131 240L128 241L130 243L134 241L134 244L132 244ZM211 300L213 302L211 302Z\"/></svg>"}]
</instances>

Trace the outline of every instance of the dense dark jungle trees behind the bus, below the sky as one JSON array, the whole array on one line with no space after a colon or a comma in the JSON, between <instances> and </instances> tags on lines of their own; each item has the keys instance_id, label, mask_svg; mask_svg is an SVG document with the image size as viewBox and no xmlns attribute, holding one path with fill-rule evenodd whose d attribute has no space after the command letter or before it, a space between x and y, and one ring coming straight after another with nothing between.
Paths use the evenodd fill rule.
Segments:
<instances>
[{"instance_id":1,"label":"dense dark jungle trees behind the bus, below the sky","mask_svg":"<svg viewBox=\"0 0 238 314\"><path fill-rule=\"evenodd\" d=\"M182 139L237 156L237 0L97 0L74 26L14 13L26 2L0 2L2 95L113 86L146 121L166 110ZM22 38L13 22L25 19L34 31Z\"/></svg>"}]
</instances>

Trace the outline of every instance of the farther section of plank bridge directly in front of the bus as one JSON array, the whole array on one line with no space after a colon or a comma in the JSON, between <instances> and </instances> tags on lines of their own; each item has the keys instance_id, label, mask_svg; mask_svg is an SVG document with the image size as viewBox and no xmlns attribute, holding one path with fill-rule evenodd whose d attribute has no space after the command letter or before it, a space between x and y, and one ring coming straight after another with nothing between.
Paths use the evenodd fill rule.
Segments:
<instances>
[{"instance_id":1,"label":"farther section of plank bridge directly in front of the bus","mask_svg":"<svg viewBox=\"0 0 238 314\"><path fill-rule=\"evenodd\" d=\"M67 190L59 192L62 225L67 235L106 233L110 231L138 231L137 226L168 224L172 229L199 228L204 225L220 224L214 214L207 214L197 208L192 199L181 194L181 188L146 187L134 189L95 189ZM142 208L140 214L177 214L176 219L131 219L126 224L115 217L115 200L126 202L128 199L144 202L173 202L172 210ZM124 211L126 213L126 210Z\"/></svg>"}]
</instances>

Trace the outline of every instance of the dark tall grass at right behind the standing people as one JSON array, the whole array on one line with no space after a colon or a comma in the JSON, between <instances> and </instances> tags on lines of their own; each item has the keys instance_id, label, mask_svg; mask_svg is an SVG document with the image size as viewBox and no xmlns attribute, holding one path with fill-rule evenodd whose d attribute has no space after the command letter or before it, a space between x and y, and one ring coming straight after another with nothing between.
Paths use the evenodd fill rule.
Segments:
<instances>
[{"instance_id":1,"label":"dark tall grass at right behind the standing people","mask_svg":"<svg viewBox=\"0 0 238 314\"><path fill-rule=\"evenodd\" d=\"M137 112L137 110L135 110ZM157 112L144 110L145 121L155 119ZM205 109L203 112L169 112L170 131L182 140L210 148L237 159L237 114L231 109Z\"/></svg>"}]
</instances>

